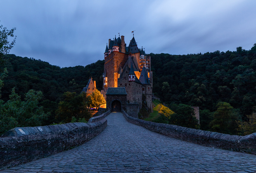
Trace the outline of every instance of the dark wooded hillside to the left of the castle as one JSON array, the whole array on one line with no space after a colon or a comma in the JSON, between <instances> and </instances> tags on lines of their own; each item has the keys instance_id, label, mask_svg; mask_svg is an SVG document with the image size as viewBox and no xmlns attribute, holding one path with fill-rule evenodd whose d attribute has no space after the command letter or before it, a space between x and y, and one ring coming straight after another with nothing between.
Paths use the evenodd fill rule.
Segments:
<instances>
[{"instance_id":1,"label":"dark wooded hillside to the left of the castle","mask_svg":"<svg viewBox=\"0 0 256 173\"><path fill-rule=\"evenodd\" d=\"M44 107L46 112L51 113L43 125L54 122L55 111L58 108L58 103L64 99L64 92L80 93L90 77L96 80L98 90L102 88L101 74L104 71L104 60L99 60L85 67L60 68L40 59L22 58L14 54L7 54L5 58L9 59L6 63L8 74L4 78L1 99L9 100L9 95L14 87L16 93L22 98L31 89L42 91L43 97L40 100L40 105Z\"/></svg>"}]
</instances>

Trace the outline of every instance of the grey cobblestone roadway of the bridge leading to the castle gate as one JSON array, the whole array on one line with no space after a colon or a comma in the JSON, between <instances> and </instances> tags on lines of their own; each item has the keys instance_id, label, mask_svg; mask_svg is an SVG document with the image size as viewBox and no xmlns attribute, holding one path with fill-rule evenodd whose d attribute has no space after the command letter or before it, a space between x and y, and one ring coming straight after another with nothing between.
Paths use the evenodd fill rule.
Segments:
<instances>
[{"instance_id":1,"label":"grey cobblestone roadway of the bridge leading to the castle gate","mask_svg":"<svg viewBox=\"0 0 256 173\"><path fill-rule=\"evenodd\" d=\"M256 156L204 147L151 132L111 113L97 137L69 151L0 173L251 173Z\"/></svg>"}]
</instances>

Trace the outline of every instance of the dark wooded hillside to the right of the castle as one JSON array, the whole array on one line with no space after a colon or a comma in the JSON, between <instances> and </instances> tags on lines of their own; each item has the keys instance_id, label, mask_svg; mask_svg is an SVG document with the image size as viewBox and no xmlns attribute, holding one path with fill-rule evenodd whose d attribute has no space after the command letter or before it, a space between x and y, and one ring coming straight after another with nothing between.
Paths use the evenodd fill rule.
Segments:
<instances>
[{"instance_id":1,"label":"dark wooded hillside to the right of the castle","mask_svg":"<svg viewBox=\"0 0 256 173\"><path fill-rule=\"evenodd\" d=\"M242 120L255 111L256 44L249 51L237 47L237 51L150 56L153 93L171 108L183 103L214 112L219 102L227 102Z\"/></svg>"}]
</instances>

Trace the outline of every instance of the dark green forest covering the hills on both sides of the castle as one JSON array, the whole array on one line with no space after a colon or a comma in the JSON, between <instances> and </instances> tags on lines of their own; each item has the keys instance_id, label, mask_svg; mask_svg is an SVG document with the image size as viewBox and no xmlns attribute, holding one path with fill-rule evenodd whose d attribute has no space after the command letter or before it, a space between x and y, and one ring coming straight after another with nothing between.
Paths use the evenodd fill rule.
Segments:
<instances>
[{"instance_id":1,"label":"dark green forest covering the hills on both sides of the castle","mask_svg":"<svg viewBox=\"0 0 256 173\"><path fill-rule=\"evenodd\" d=\"M151 56L154 95L174 112L179 110L179 105L198 106L200 129L241 134L237 130L239 122L253 123L250 120L256 109L256 44L250 50L237 47L236 51L204 54L148 55ZM60 68L14 54L4 55L3 59L8 60L5 63L8 74L3 80L1 99L7 102L10 95L14 97L17 93L22 100L31 89L41 91L38 106L50 113L42 125L59 123L56 110L59 103L71 95L66 92L79 95L90 77L96 80L98 90L102 88L104 60ZM228 117L221 117L223 112ZM166 117L157 121L161 119L166 122Z\"/></svg>"}]
</instances>

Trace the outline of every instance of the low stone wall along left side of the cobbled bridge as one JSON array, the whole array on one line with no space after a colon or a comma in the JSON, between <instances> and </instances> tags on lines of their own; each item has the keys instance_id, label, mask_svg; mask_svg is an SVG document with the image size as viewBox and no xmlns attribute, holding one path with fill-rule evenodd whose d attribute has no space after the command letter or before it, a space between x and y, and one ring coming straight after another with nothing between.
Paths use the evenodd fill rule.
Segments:
<instances>
[{"instance_id":1,"label":"low stone wall along left side of the cobbled bridge","mask_svg":"<svg viewBox=\"0 0 256 173\"><path fill-rule=\"evenodd\" d=\"M104 118L94 117L89 121L92 123L76 122L11 129L0 137L0 169L79 146L97 136L107 126Z\"/></svg>"}]
</instances>

